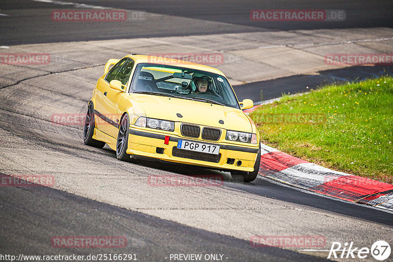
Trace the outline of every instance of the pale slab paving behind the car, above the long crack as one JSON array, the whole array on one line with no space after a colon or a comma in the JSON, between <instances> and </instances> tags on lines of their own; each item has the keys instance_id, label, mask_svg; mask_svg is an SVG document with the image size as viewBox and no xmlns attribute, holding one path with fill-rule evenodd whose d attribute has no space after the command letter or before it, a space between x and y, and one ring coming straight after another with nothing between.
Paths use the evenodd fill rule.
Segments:
<instances>
[{"instance_id":1,"label":"pale slab paving behind the car, above the long crack","mask_svg":"<svg viewBox=\"0 0 393 262\"><path fill-rule=\"evenodd\" d=\"M331 63L325 57L337 53L392 55L393 29L315 29L49 43L2 46L0 53L1 87L54 73L67 75L68 71L81 70L83 74L85 68L89 68L89 80L94 82L101 76L101 66L109 57L121 58L130 53L211 65L224 72L232 85L240 85L296 75L318 75L319 71L354 65L354 62ZM6 60L18 60L18 54L32 53L42 54L35 58L41 59L36 65L24 65L23 61L19 65L16 62L11 62L15 65L3 64ZM26 68L31 70L24 72Z\"/></svg>"}]
</instances>

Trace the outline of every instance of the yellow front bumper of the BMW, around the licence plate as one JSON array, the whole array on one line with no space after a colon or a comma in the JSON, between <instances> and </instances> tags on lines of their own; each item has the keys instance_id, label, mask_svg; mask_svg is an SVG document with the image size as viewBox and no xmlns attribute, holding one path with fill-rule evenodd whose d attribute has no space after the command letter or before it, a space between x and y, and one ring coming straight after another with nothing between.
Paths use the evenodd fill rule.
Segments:
<instances>
[{"instance_id":1,"label":"yellow front bumper of the BMW, around the licence plate","mask_svg":"<svg viewBox=\"0 0 393 262\"><path fill-rule=\"evenodd\" d=\"M167 138L168 145L165 144L166 136L169 138ZM179 139L218 145L220 146L220 154L212 155L177 149L177 141ZM250 144L249 147L231 145L225 142L192 139L130 127L126 152L130 155L153 157L176 163L252 172L259 150L258 146L258 144L253 146Z\"/></svg>"}]
</instances>

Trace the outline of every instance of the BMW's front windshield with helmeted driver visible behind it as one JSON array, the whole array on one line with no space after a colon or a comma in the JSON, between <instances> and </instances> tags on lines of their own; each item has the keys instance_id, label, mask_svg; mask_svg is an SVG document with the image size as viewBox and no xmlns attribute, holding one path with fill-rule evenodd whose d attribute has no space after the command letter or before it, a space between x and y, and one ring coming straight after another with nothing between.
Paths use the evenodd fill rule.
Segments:
<instances>
[{"instance_id":1,"label":"BMW's front windshield with helmeted driver visible behind it","mask_svg":"<svg viewBox=\"0 0 393 262\"><path fill-rule=\"evenodd\" d=\"M130 92L170 96L239 108L228 80L218 74L161 64L138 64Z\"/></svg>"}]
</instances>

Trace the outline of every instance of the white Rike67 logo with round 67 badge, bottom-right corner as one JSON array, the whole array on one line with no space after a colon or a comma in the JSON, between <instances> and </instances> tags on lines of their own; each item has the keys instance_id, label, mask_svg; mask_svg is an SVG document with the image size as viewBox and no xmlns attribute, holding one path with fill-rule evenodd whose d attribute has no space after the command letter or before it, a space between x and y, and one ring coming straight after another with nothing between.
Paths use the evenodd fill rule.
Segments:
<instances>
[{"instance_id":1,"label":"white Rike67 logo with round 67 badge, bottom-right corner","mask_svg":"<svg viewBox=\"0 0 393 262\"><path fill-rule=\"evenodd\" d=\"M384 261L390 257L391 251L389 243L384 240L374 242L371 248L356 247L353 241L351 243L345 242L344 244L333 242L328 259L365 259L371 254L374 259Z\"/></svg>"}]
</instances>

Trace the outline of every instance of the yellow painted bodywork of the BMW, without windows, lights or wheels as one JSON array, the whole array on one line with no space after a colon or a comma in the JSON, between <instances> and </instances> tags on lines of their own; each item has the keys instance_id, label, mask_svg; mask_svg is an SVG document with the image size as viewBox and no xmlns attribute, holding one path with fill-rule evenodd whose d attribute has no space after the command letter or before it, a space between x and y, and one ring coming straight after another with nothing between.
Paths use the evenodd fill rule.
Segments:
<instances>
[{"instance_id":1,"label":"yellow painted bodywork of the BMW, without windows, lights or wheels","mask_svg":"<svg viewBox=\"0 0 393 262\"><path fill-rule=\"evenodd\" d=\"M121 122L122 116L128 114L130 126L127 154L222 170L253 171L254 162L259 152L260 138L255 124L241 109L187 99L129 93L131 79L136 65L140 63L160 63L169 66L190 68L218 74L225 78L220 70L169 58L166 58L165 62L163 62L162 57L146 55L128 55L126 57L134 60L135 65L132 69L130 80L124 85L124 92L110 87L109 82L105 80L107 74L98 79L93 90L93 96L89 102L94 104L95 110L93 139L107 143L112 150L116 151L119 123ZM114 60L111 59L110 61ZM105 69L106 71L109 70L107 67ZM181 114L182 117L179 118L177 114ZM173 121L174 131L136 126L135 122L139 117ZM221 135L216 141L202 139L201 135L196 138L187 137L180 130L182 124L197 125L200 127L200 130L204 127L219 129ZM257 142L252 144L226 140L227 131L256 134ZM166 137L168 140L167 143L165 143ZM207 161L206 159L192 159L188 156L179 157L179 153L174 154L177 152L176 147L179 139L218 145L220 146L219 153L221 157L219 160L211 160L209 158L210 160ZM207 155L207 157L210 156ZM214 156L212 157L214 158ZM234 159L234 161L228 161L228 158ZM236 164L239 163L239 160L241 161L240 166Z\"/></svg>"}]
</instances>

